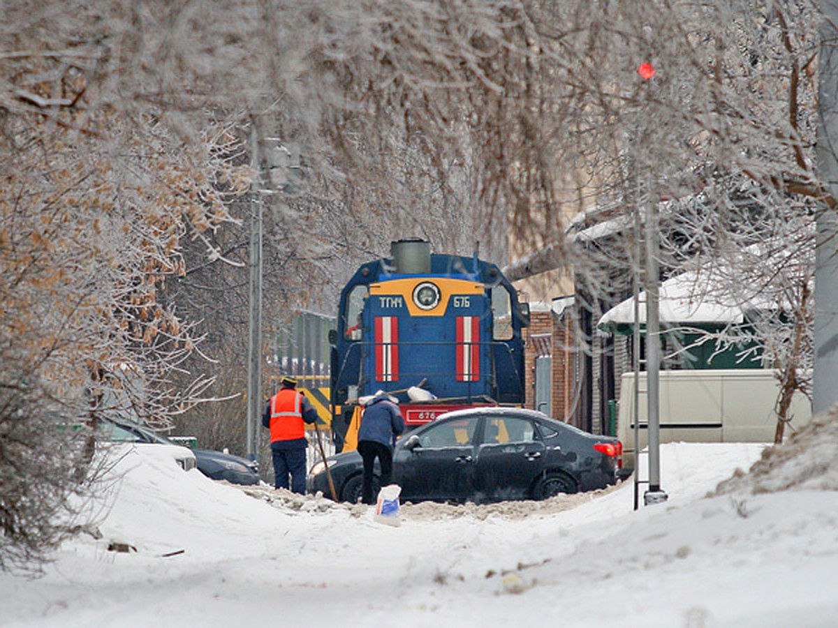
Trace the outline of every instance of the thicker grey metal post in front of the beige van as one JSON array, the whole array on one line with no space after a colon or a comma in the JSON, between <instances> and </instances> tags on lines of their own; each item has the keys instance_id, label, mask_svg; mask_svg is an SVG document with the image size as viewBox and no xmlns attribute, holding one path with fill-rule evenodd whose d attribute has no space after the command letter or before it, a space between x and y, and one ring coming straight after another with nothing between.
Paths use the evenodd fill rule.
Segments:
<instances>
[{"instance_id":1,"label":"thicker grey metal post in front of the beige van","mask_svg":"<svg viewBox=\"0 0 838 628\"><path fill-rule=\"evenodd\" d=\"M649 490L644 492L643 502L650 504L665 502L667 495L660 490L660 277L658 255L660 234L658 234L658 203L654 198L646 200L646 400L649 404ZM634 383L635 387L637 383Z\"/></svg>"}]
</instances>

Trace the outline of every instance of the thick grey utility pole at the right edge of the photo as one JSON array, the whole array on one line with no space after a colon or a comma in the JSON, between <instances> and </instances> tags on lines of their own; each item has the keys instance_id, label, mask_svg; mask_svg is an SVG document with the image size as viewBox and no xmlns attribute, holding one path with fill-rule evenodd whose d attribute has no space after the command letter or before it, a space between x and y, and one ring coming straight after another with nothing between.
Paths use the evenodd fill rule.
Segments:
<instances>
[{"instance_id":1,"label":"thick grey utility pole at the right edge of the photo","mask_svg":"<svg viewBox=\"0 0 838 628\"><path fill-rule=\"evenodd\" d=\"M827 192L838 198L838 2L822 0L817 162ZM838 402L838 216L822 203L815 239L815 372L812 414Z\"/></svg>"}]
</instances>

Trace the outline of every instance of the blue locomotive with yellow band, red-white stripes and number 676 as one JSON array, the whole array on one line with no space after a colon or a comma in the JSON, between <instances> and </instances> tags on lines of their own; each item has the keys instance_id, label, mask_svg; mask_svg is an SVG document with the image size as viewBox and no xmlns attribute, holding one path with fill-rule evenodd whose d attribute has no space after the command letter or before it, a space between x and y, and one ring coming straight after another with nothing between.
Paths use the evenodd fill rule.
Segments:
<instances>
[{"instance_id":1,"label":"blue locomotive with yellow band, red-white stripes and number 676","mask_svg":"<svg viewBox=\"0 0 838 628\"><path fill-rule=\"evenodd\" d=\"M391 258L354 273L330 334L332 431L354 449L360 403L383 390L408 427L451 409L524 403L527 304L499 268L432 254L422 239L391 243Z\"/></svg>"}]
</instances>

